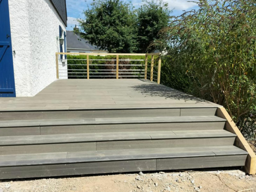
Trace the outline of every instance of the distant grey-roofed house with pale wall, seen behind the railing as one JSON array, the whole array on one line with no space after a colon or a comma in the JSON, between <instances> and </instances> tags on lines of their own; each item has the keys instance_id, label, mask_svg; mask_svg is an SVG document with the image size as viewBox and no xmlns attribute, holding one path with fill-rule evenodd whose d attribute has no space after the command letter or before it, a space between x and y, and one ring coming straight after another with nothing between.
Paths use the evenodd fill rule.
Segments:
<instances>
[{"instance_id":1,"label":"distant grey-roofed house with pale wall, seen behind the railing","mask_svg":"<svg viewBox=\"0 0 256 192\"><path fill-rule=\"evenodd\" d=\"M72 31L67 31L67 52L73 53L108 53L92 45Z\"/></svg>"}]
</instances>

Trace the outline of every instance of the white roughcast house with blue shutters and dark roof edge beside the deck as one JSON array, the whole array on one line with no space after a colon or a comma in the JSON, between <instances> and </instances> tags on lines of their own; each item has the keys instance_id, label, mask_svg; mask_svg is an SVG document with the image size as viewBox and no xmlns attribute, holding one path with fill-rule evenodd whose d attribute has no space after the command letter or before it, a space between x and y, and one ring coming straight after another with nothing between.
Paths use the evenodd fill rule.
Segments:
<instances>
[{"instance_id":1,"label":"white roughcast house with blue shutters and dark roof edge beside the deck","mask_svg":"<svg viewBox=\"0 0 256 192\"><path fill-rule=\"evenodd\" d=\"M67 52L66 0L1 0L0 11L0 96L34 96L56 80L55 53Z\"/></svg>"}]
</instances>

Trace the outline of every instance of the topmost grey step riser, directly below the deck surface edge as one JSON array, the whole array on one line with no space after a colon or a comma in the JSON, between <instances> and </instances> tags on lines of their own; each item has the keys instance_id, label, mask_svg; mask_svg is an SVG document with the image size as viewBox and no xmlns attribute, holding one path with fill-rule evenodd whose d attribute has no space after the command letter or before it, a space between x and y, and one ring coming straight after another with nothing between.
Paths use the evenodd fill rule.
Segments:
<instances>
[{"instance_id":1,"label":"topmost grey step riser, directly below the deck surface edge","mask_svg":"<svg viewBox=\"0 0 256 192\"><path fill-rule=\"evenodd\" d=\"M109 118L109 117L165 117L214 116L217 108L166 108L166 109L114 109L71 111L17 111L0 112L0 120Z\"/></svg>"}]
</instances>

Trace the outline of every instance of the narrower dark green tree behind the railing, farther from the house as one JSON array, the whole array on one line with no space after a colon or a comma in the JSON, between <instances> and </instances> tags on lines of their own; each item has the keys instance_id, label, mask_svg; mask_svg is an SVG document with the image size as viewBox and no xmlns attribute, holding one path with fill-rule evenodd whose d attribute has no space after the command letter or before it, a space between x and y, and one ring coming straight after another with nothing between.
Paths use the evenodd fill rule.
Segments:
<instances>
[{"instance_id":1,"label":"narrower dark green tree behind the railing, farther from the house","mask_svg":"<svg viewBox=\"0 0 256 192\"><path fill-rule=\"evenodd\" d=\"M138 49L141 53L155 50L150 43L159 38L158 32L168 26L171 11L162 0L146 0L137 10Z\"/></svg>"}]
</instances>

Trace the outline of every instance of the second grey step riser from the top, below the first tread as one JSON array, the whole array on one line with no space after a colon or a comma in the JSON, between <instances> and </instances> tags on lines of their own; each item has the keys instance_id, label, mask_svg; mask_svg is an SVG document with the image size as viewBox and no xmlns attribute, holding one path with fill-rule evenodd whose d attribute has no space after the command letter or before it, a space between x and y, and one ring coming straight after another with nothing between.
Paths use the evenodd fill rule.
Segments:
<instances>
[{"instance_id":1,"label":"second grey step riser from the top, below the first tread","mask_svg":"<svg viewBox=\"0 0 256 192\"><path fill-rule=\"evenodd\" d=\"M53 135L76 133L172 131L172 130L216 130L223 129L225 122L191 123L142 123L113 125L67 125L43 127L0 128L0 136Z\"/></svg>"}]
</instances>

